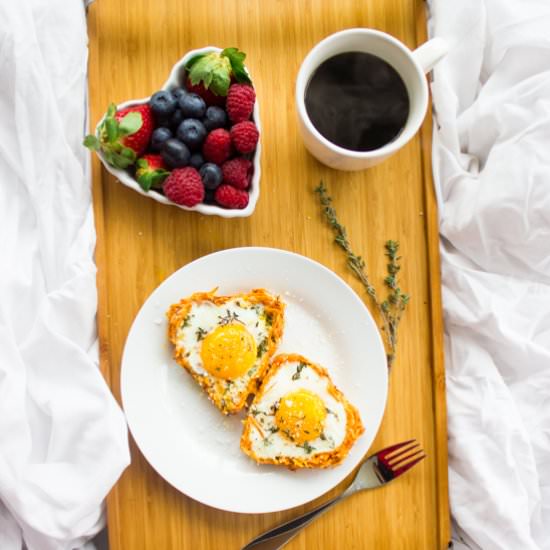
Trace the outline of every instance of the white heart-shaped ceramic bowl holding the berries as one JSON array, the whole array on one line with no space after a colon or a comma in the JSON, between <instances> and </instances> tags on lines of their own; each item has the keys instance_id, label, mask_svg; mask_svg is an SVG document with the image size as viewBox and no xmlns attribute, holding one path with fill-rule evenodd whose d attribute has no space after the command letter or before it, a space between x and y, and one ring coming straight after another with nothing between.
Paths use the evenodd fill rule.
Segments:
<instances>
[{"instance_id":1,"label":"white heart-shaped ceramic bowl holding the berries","mask_svg":"<svg viewBox=\"0 0 550 550\"><path fill-rule=\"evenodd\" d=\"M187 52L174 65L174 67L172 68L172 71L170 72L170 76L168 77L168 80L164 83L161 89L172 90L182 85L185 77L185 65L193 56L201 53L220 52L220 51L222 51L221 48L208 46L206 48L200 48L198 50L191 50ZM120 103L119 105L117 105L117 111L133 105L141 105L143 103L147 103L148 101L149 101L148 97L143 99L131 99L130 101L125 101L124 103ZM254 153L254 158L252 159L254 171L252 174L252 181L250 182L250 187L249 187L248 205L246 206L246 208L242 208L242 209L222 208L221 206L217 206L213 204L204 204L204 203L197 204L197 206L193 206L191 208L187 206L181 206L179 204L176 204L175 202L172 202L170 199L165 197L162 193L159 193L154 189L151 189L150 191L144 191L140 187L139 183L132 177L130 172L128 172L127 170L114 168L113 166L109 165L105 160L105 157L103 156L101 151L98 151L98 156L101 162L103 163L103 166L105 166L105 169L108 172L113 174L113 176L115 176L122 184L126 185L126 187L133 189L134 191L138 192L140 195L149 197L150 199L156 200L157 202L160 202L162 204L177 206L178 208L181 208L183 210L200 212L201 214L206 214L209 216L222 216L223 218L244 218L246 216L250 216L252 212L254 212L254 208L256 208L256 202L258 201L258 198L260 196L260 174L261 174L260 156L261 156L262 130L260 126L260 108L258 106L257 99L256 99L256 103L254 104L253 119L254 119L254 124L256 124L256 127L260 132L260 141L258 142L258 145L256 147L256 152ZM99 127L99 125L102 122L103 122L103 119L99 121L97 126ZM97 134L97 127L96 127L96 134Z\"/></svg>"}]
</instances>

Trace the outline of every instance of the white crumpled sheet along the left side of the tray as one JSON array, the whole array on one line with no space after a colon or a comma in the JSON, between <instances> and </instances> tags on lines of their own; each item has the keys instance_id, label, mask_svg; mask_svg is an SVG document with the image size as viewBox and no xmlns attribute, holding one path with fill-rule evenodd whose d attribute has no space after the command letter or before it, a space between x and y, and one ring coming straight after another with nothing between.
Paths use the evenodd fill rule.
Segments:
<instances>
[{"instance_id":1,"label":"white crumpled sheet along the left side of the tray","mask_svg":"<svg viewBox=\"0 0 550 550\"><path fill-rule=\"evenodd\" d=\"M0 549L69 550L129 462L99 370L83 2L0 2Z\"/></svg>"}]
</instances>

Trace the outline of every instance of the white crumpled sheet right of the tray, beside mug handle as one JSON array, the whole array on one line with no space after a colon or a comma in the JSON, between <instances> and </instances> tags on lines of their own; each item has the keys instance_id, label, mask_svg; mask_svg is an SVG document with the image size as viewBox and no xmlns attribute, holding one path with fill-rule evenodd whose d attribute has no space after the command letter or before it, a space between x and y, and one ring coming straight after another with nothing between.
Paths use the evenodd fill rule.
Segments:
<instances>
[{"instance_id":1,"label":"white crumpled sheet right of the tray, beside mug handle","mask_svg":"<svg viewBox=\"0 0 550 550\"><path fill-rule=\"evenodd\" d=\"M550 2L430 26L455 548L550 549Z\"/></svg>"}]
</instances>

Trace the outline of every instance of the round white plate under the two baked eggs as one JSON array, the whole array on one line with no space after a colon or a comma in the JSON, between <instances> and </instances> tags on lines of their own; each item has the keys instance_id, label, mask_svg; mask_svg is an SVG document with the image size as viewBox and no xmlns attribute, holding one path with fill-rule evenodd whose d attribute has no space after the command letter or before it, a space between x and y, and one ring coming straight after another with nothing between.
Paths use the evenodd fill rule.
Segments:
<instances>
[{"instance_id":1,"label":"round white plate under the two baked eggs","mask_svg":"<svg viewBox=\"0 0 550 550\"><path fill-rule=\"evenodd\" d=\"M165 312L193 292L264 287L287 304L278 352L324 365L359 409L365 433L329 470L258 466L239 448L242 416L224 417L172 359ZM386 404L387 369L378 329L337 275L298 254L235 248L176 271L139 311L122 358L122 401L136 443L155 470L186 495L231 512L264 513L308 502L343 480L371 445Z\"/></svg>"}]
</instances>

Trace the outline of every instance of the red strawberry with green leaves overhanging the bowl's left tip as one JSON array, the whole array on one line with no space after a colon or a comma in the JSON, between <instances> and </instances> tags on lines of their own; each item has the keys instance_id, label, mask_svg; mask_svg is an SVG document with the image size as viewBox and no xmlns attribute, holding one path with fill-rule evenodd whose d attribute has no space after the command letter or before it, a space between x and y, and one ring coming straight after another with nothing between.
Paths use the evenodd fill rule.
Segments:
<instances>
[{"instance_id":1,"label":"red strawberry with green leaves overhanging the bowl's left tip","mask_svg":"<svg viewBox=\"0 0 550 550\"><path fill-rule=\"evenodd\" d=\"M148 104L117 112L116 106L111 103L97 136L86 136L84 145L94 151L100 150L111 166L128 168L147 148L153 126L153 115Z\"/></svg>"}]
</instances>

